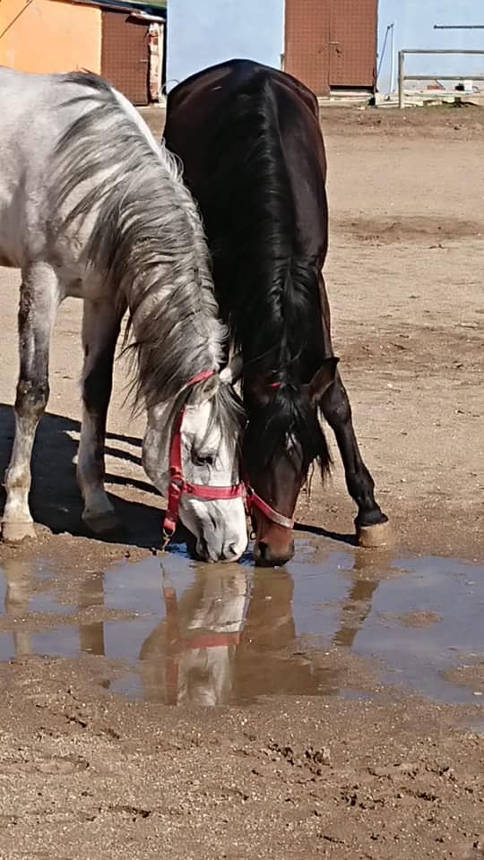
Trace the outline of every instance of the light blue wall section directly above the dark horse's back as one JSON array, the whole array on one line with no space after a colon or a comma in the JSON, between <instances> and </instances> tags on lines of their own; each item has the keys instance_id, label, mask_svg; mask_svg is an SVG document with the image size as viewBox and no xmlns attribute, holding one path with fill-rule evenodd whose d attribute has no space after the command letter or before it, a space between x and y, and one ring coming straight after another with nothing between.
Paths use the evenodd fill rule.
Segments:
<instances>
[{"instance_id":1,"label":"light blue wall section directly above the dark horse's back","mask_svg":"<svg viewBox=\"0 0 484 860\"><path fill-rule=\"evenodd\" d=\"M167 89L235 57L281 67L284 0L169 0Z\"/></svg>"}]
</instances>

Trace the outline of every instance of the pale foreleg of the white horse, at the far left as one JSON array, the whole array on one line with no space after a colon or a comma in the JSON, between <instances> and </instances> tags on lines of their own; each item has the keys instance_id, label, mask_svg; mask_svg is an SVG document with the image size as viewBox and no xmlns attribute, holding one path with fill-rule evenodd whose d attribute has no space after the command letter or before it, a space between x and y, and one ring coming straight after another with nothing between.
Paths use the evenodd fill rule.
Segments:
<instances>
[{"instance_id":1,"label":"pale foreleg of the white horse, at the far left","mask_svg":"<svg viewBox=\"0 0 484 860\"><path fill-rule=\"evenodd\" d=\"M35 538L29 508L30 460L35 433L48 401L48 352L59 304L55 271L36 263L22 272L19 306L20 374L15 399L15 438L5 476L6 502L2 537Z\"/></svg>"}]
</instances>

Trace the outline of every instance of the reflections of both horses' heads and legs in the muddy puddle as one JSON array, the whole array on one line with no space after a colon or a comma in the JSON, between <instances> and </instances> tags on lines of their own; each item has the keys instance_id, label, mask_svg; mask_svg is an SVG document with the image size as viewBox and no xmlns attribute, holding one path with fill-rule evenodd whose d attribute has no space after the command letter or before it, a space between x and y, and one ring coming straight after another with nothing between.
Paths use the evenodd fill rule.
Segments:
<instances>
[{"instance_id":1,"label":"reflections of both horses' heads and legs in the muddy puddle","mask_svg":"<svg viewBox=\"0 0 484 860\"><path fill-rule=\"evenodd\" d=\"M371 556L355 555L333 646L352 648L371 612L379 572L389 567L381 557L376 570L371 564ZM5 559L3 570L6 615L20 618L32 610L45 611L38 599L43 589L37 563ZM217 706L264 695L327 695L341 689L341 662L335 666L331 655L322 660L321 648L307 649L297 632L289 571L198 565L192 585L179 598L163 568L162 574L166 615L139 652L145 700ZM47 589L51 594L48 581ZM86 574L75 595L77 610L102 608L104 602L103 574ZM78 631L81 652L101 657L107 653L101 621L79 624ZM35 653L34 636L31 630L22 631L21 624L15 626L15 657Z\"/></svg>"}]
</instances>

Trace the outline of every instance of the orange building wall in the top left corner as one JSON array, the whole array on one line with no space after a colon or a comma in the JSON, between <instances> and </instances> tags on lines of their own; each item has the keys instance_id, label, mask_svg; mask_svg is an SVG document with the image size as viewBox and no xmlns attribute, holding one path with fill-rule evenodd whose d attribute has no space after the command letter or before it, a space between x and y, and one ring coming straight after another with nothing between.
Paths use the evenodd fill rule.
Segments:
<instances>
[{"instance_id":1,"label":"orange building wall in the top left corner","mask_svg":"<svg viewBox=\"0 0 484 860\"><path fill-rule=\"evenodd\" d=\"M101 13L58 0L0 0L0 65L100 73Z\"/></svg>"}]
</instances>

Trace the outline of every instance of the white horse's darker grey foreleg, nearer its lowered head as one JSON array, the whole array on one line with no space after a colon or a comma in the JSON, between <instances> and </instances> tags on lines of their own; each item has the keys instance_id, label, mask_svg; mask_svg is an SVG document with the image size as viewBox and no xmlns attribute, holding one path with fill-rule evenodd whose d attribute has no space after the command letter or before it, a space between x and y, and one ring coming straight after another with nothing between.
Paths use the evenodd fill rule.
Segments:
<instances>
[{"instance_id":1,"label":"white horse's darker grey foreleg, nearer its lowered head","mask_svg":"<svg viewBox=\"0 0 484 860\"><path fill-rule=\"evenodd\" d=\"M113 362L121 316L112 300L84 299L82 316L82 429L77 481L84 501L82 520L95 534L120 528L104 489L106 418L113 384Z\"/></svg>"}]
</instances>

